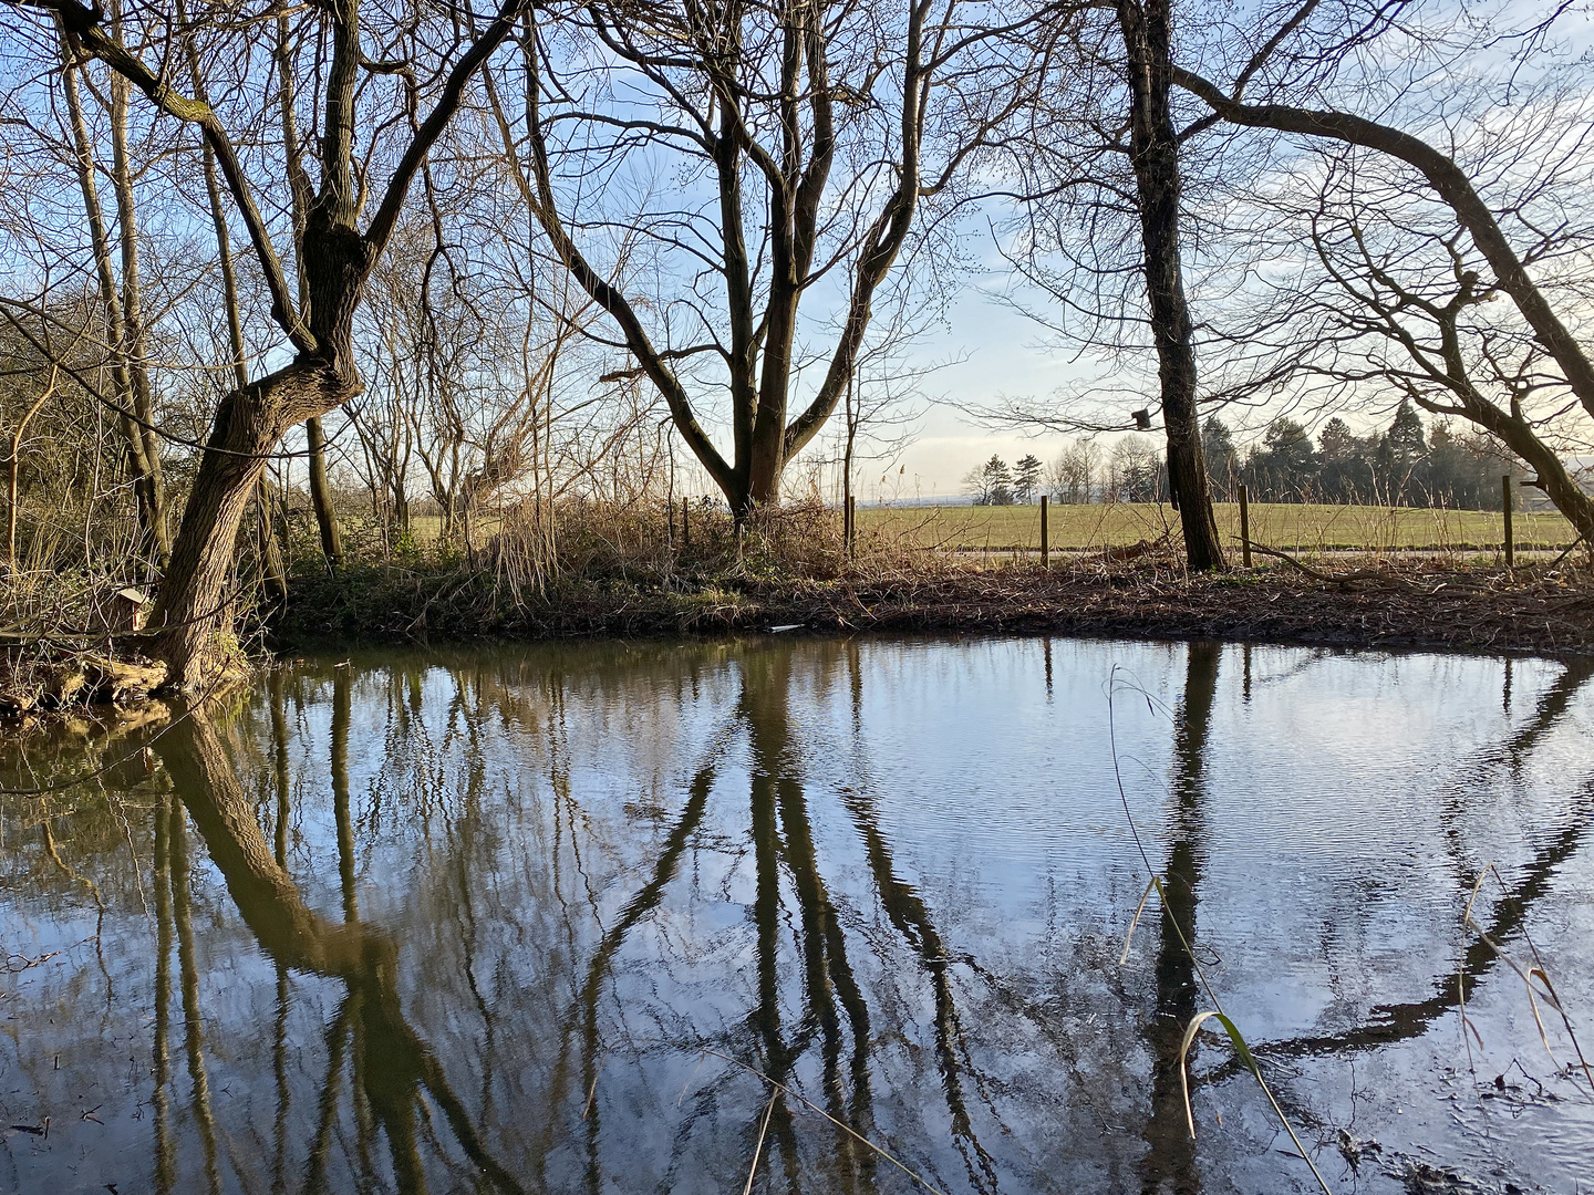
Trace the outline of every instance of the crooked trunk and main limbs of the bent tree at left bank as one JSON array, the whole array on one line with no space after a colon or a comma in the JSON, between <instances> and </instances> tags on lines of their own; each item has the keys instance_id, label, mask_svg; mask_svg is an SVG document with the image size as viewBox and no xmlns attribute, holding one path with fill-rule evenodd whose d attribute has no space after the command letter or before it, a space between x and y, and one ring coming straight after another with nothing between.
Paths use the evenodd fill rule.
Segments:
<instances>
[{"instance_id":1,"label":"crooked trunk and main limbs of the bent tree at left bank","mask_svg":"<svg viewBox=\"0 0 1594 1195\"><path fill-rule=\"evenodd\" d=\"M402 127L402 113L416 112L422 92L430 94L430 112L410 121L413 131L406 140L389 147L389 178L381 188L371 185L371 170L378 167L375 147L383 140L379 134L395 121L375 112L367 112L362 121L359 100L362 91L370 94L360 86L362 73L379 64L373 64L362 48L359 0L336 0L298 18L325 27L328 33L328 54L319 64L324 73L316 88L322 99L324 126L316 155L320 182L304 210L298 261L303 287L298 296L289 287L269 223L257 204L260 185L252 182L252 175L258 178L258 170L245 164L217 108L180 94L164 69L151 69L129 49L129 43L148 46L166 40L164 61L180 61L182 45L171 41L175 37L171 30L177 29L171 14L142 14L147 27L129 37L123 29L107 27L102 10L78 0L24 0L19 6L49 13L59 22L61 38L73 61L105 62L161 113L201 131L238 217L249 231L255 264L269 293L271 319L295 352L292 362L230 392L218 405L151 618L158 633L150 650L167 664L171 679L182 685L201 685L215 658L217 631L226 620L238 529L265 462L290 427L359 394L352 322L371 266L387 245L427 151L461 107L469 81L510 35L526 5L524 0L504 0L493 21L467 41L462 53L451 61L427 64L427 86L422 88L421 72L410 64L405 86L387 94L398 107L397 123ZM183 35L190 29L212 27L214 16L193 14ZM419 13L414 19L427 22ZM416 54L418 46L426 43L416 35L419 24L411 25L408 43ZM443 25L457 33L446 18ZM225 32L225 22L215 22L215 27ZM454 41L454 33L445 35L445 43ZM363 159L355 159L355 135L362 131L370 148ZM367 202L368 196L375 206ZM360 231L357 221L367 209L370 217Z\"/></svg>"}]
</instances>

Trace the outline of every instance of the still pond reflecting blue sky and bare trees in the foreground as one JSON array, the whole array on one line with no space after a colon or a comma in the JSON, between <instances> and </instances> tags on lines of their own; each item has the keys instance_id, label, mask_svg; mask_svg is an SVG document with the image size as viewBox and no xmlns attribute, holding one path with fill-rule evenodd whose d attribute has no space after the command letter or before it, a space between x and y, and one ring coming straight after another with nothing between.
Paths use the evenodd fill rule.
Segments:
<instances>
[{"instance_id":1,"label":"still pond reflecting blue sky and bare trees in the foreground","mask_svg":"<svg viewBox=\"0 0 1594 1195\"><path fill-rule=\"evenodd\" d=\"M1591 677L771 636L37 727L0 1192L1588 1190ZM1191 1138L1213 1001L1278 1112L1207 1020Z\"/></svg>"}]
</instances>

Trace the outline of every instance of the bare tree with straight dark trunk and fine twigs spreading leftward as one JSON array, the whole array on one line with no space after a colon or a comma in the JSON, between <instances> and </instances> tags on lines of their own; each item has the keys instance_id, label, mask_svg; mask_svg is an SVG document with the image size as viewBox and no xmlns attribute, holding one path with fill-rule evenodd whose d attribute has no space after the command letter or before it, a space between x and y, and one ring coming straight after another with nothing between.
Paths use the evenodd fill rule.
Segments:
<instances>
[{"instance_id":1,"label":"bare tree with straight dark trunk and fine twigs spreading leftward","mask_svg":"<svg viewBox=\"0 0 1594 1195\"><path fill-rule=\"evenodd\" d=\"M1068 430L1121 430L1127 406L1160 408L1170 497L1180 510L1192 569L1224 567L1203 462L1196 319L1188 296L1183 226L1191 139L1203 129L1176 120L1172 91L1175 11L1170 0L1114 0L1062 10L1041 102L1007 143L1017 218L1004 247L1039 306L1012 300L1054 328L1074 352L1106 358L1087 395L1068 411L1007 402L982 414L996 422ZM1156 362L1154 381L1143 360ZM1125 371L1124 365L1129 370ZM1125 382L1125 376L1132 381ZM1144 403L1137 386L1154 384ZM1119 405L1113 417L1078 409ZM1079 403L1078 398L1093 402ZM1133 425L1146 427L1144 411Z\"/></svg>"}]
</instances>

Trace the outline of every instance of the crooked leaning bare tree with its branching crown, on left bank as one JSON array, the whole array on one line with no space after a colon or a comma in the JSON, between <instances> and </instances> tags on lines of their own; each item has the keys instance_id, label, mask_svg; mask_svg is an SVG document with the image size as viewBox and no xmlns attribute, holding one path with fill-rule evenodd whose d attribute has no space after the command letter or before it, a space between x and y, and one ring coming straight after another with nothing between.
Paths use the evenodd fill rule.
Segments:
<instances>
[{"instance_id":1,"label":"crooked leaning bare tree with its branching crown, on left bank","mask_svg":"<svg viewBox=\"0 0 1594 1195\"><path fill-rule=\"evenodd\" d=\"M281 368L245 379L215 406L151 613L147 652L167 666L169 684L199 688L222 663L233 605L234 545L255 484L292 427L360 394L352 328L367 279L387 247L427 153L461 108L470 80L510 37L531 0L502 0L496 16L480 24L473 37L446 14L419 3L400 3L398 13L383 10L371 18L379 25L379 33L371 35L383 45L379 61L365 51L359 0L328 0L293 10L292 18L274 14L274 5L263 3L260 19L241 19L234 6L220 3L186 10L182 0L174 0L175 8L167 13L145 8L137 18L113 13L110 19L97 3L80 0L5 3L45 18L19 30L40 45L41 56L56 56L53 41L59 37L70 62L105 64L161 115L198 131L199 145L186 142L177 151L193 153L196 161L201 151L214 156L233 214L247 233L269 320L292 352ZM282 89L293 80L274 70L269 48L258 56L268 65L252 70L252 51L261 49L252 38L265 30L281 32L287 21L300 22L306 37L325 46L316 56L319 76L308 86L298 80L300 94L319 97L320 107L316 115L320 135L304 155L319 169L314 185L308 172L295 169L300 145L277 147L289 169L258 161L253 145L258 126L276 123L271 116L281 112ZM438 54L430 49L435 45L453 51ZM142 56L151 46L155 67ZM199 86L198 94L182 94L175 78L183 72L174 64L185 61L196 64L191 81L202 84L198 64L206 62L218 76L210 91L233 96L233 115L247 129L242 142L234 140L228 121L202 99ZM241 83L231 76L239 64ZM375 86L373 80L384 86ZM359 156L357 140L363 142ZM386 183L376 183L378 172L386 172ZM282 221L273 221L258 201L285 175L292 175L295 198L304 199L301 228L281 228ZM298 293L289 284L292 257L279 252L274 233L298 249Z\"/></svg>"}]
</instances>

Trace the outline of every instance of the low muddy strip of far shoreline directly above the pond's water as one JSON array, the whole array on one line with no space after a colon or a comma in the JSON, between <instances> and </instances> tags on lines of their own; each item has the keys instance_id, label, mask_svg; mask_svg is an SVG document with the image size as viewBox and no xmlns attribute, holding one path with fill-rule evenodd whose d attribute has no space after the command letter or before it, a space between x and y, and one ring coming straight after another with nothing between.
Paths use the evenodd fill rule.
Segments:
<instances>
[{"instance_id":1,"label":"low muddy strip of far shoreline directly above the pond's water","mask_svg":"<svg viewBox=\"0 0 1594 1195\"><path fill-rule=\"evenodd\" d=\"M1352 569L1323 566L1334 574ZM437 578L391 583L381 617L346 582L296 596L277 650L336 645L703 637L768 633L1052 633L1116 639L1234 639L1361 648L1594 653L1594 577L1584 570L1411 564L1344 583L1278 566L1189 577L1175 566L944 567L875 577L682 578L673 586L582 583L485 604Z\"/></svg>"}]
</instances>

